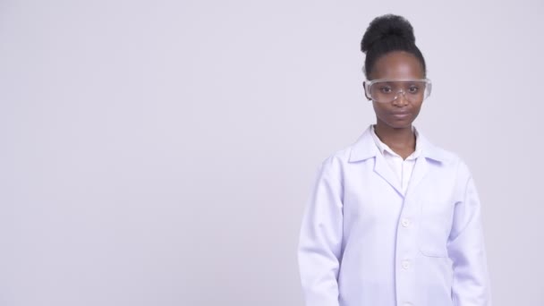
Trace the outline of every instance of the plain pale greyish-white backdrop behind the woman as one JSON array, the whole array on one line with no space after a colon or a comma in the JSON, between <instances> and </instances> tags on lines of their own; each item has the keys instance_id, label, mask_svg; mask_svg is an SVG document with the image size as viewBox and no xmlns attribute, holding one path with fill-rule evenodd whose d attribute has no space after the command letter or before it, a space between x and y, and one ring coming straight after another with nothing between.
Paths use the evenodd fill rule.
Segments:
<instances>
[{"instance_id":1,"label":"plain pale greyish-white backdrop behind the woman","mask_svg":"<svg viewBox=\"0 0 544 306\"><path fill-rule=\"evenodd\" d=\"M496 306L544 305L542 1L0 0L0 305L302 305L320 161L408 18L417 126L471 166Z\"/></svg>"}]
</instances>

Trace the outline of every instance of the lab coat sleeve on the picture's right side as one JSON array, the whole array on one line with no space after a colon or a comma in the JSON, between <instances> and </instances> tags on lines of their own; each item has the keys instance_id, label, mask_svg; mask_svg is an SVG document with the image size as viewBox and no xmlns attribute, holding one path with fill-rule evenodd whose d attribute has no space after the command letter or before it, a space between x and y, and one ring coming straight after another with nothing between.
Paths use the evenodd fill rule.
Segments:
<instances>
[{"instance_id":1,"label":"lab coat sleeve on the picture's right side","mask_svg":"<svg viewBox=\"0 0 544 306\"><path fill-rule=\"evenodd\" d=\"M472 176L463 181L447 244L454 268L452 299L455 306L491 306L480 199Z\"/></svg>"}]
</instances>

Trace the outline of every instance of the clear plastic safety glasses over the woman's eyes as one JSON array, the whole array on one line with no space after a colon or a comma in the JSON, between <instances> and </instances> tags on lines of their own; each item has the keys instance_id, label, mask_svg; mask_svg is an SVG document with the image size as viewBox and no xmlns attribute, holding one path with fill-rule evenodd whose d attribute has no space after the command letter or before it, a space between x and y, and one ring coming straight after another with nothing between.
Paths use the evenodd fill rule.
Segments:
<instances>
[{"instance_id":1,"label":"clear plastic safety glasses over the woman's eyes","mask_svg":"<svg viewBox=\"0 0 544 306\"><path fill-rule=\"evenodd\" d=\"M404 96L411 103L428 98L431 83L429 79L378 79L364 82L367 98L379 103L390 103Z\"/></svg>"}]
</instances>

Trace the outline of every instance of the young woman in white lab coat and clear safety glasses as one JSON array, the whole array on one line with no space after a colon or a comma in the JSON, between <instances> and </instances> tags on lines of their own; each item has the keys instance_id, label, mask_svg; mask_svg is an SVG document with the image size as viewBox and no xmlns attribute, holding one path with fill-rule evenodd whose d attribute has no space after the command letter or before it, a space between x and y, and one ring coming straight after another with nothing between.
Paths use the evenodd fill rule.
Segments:
<instances>
[{"instance_id":1,"label":"young woman in white lab coat and clear safety glasses","mask_svg":"<svg viewBox=\"0 0 544 306\"><path fill-rule=\"evenodd\" d=\"M362 42L376 124L328 157L298 250L308 306L489 306L472 176L413 126L430 94L411 24L385 15Z\"/></svg>"}]
</instances>

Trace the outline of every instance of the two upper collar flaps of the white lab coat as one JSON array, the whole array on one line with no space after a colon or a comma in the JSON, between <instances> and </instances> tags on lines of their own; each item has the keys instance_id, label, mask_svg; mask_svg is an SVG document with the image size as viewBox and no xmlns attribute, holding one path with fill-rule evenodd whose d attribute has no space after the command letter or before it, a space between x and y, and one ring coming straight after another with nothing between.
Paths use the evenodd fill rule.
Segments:
<instances>
[{"instance_id":1,"label":"two upper collar flaps of the white lab coat","mask_svg":"<svg viewBox=\"0 0 544 306\"><path fill-rule=\"evenodd\" d=\"M350 153L350 162L358 162L379 154L378 147L372 139L371 126L365 130L359 139L353 144ZM438 149L418 131L418 146L421 145L421 156L437 162L446 162L449 157L442 149Z\"/></svg>"}]
</instances>

